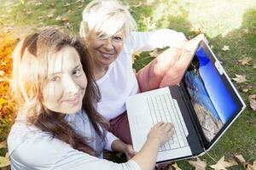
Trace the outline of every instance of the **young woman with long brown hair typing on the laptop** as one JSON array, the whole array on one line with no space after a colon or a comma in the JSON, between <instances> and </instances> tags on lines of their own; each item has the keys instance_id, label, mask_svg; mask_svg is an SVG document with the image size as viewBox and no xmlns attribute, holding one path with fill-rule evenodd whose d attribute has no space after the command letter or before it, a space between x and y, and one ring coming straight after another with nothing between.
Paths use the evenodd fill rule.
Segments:
<instances>
[{"instance_id":1,"label":"young woman with long brown hair typing on the laptop","mask_svg":"<svg viewBox=\"0 0 256 170\"><path fill-rule=\"evenodd\" d=\"M152 169L172 134L170 123L159 122L131 160L102 159L102 149L129 150L96 111L100 94L83 41L54 28L18 43L12 91L19 105L8 138L12 170Z\"/></svg>"}]
</instances>

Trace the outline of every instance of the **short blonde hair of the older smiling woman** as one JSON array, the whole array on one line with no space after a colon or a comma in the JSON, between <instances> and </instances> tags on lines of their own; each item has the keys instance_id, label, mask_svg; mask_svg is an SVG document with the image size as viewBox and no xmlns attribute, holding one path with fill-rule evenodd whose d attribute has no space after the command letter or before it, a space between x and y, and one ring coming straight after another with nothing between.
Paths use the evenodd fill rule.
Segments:
<instances>
[{"instance_id":1,"label":"short blonde hair of the older smiling woman","mask_svg":"<svg viewBox=\"0 0 256 170\"><path fill-rule=\"evenodd\" d=\"M131 16L129 6L118 0L94 0L83 11L80 24L80 36L88 37L90 33L100 33L99 37L113 36L123 30L125 36L137 29L137 23Z\"/></svg>"}]
</instances>

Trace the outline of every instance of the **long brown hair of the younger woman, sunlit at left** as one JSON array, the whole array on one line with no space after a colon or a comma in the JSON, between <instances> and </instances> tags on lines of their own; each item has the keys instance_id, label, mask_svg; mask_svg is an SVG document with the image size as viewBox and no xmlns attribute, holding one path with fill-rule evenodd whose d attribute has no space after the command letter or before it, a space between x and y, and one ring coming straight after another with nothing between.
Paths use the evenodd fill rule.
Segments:
<instances>
[{"instance_id":1,"label":"long brown hair of the younger woman, sunlit at left","mask_svg":"<svg viewBox=\"0 0 256 170\"><path fill-rule=\"evenodd\" d=\"M96 103L101 96L92 74L91 58L79 37L57 28L45 28L21 40L14 53L12 91L20 106L19 114L25 115L27 123L51 133L76 150L96 156L96 150L89 145L91 139L76 133L62 113L49 111L43 105L42 88L47 79L49 61L55 59L55 53L65 46L71 46L79 53L87 78L82 110L90 118L102 142L105 142L107 123L96 111Z\"/></svg>"}]
</instances>

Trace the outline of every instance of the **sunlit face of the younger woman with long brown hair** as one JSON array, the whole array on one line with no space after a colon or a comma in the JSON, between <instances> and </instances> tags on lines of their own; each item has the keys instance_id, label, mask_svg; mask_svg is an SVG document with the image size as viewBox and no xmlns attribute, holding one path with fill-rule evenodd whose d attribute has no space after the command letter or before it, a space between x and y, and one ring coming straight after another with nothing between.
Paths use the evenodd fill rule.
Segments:
<instances>
[{"instance_id":1,"label":"sunlit face of the younger woman with long brown hair","mask_svg":"<svg viewBox=\"0 0 256 170\"><path fill-rule=\"evenodd\" d=\"M62 48L49 62L43 88L44 106L50 111L73 114L82 107L87 79L75 48Z\"/></svg>"}]
</instances>

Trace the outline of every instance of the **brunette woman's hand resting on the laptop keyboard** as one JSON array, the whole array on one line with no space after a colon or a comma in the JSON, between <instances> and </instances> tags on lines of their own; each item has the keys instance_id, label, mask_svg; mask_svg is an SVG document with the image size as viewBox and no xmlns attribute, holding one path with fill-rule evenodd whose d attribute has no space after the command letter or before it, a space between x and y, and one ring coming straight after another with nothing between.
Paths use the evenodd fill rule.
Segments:
<instances>
[{"instance_id":1,"label":"brunette woman's hand resting on the laptop keyboard","mask_svg":"<svg viewBox=\"0 0 256 170\"><path fill-rule=\"evenodd\" d=\"M171 123L158 122L151 127L148 133L148 140L158 140L160 145L165 144L173 134L173 126Z\"/></svg>"}]
</instances>

